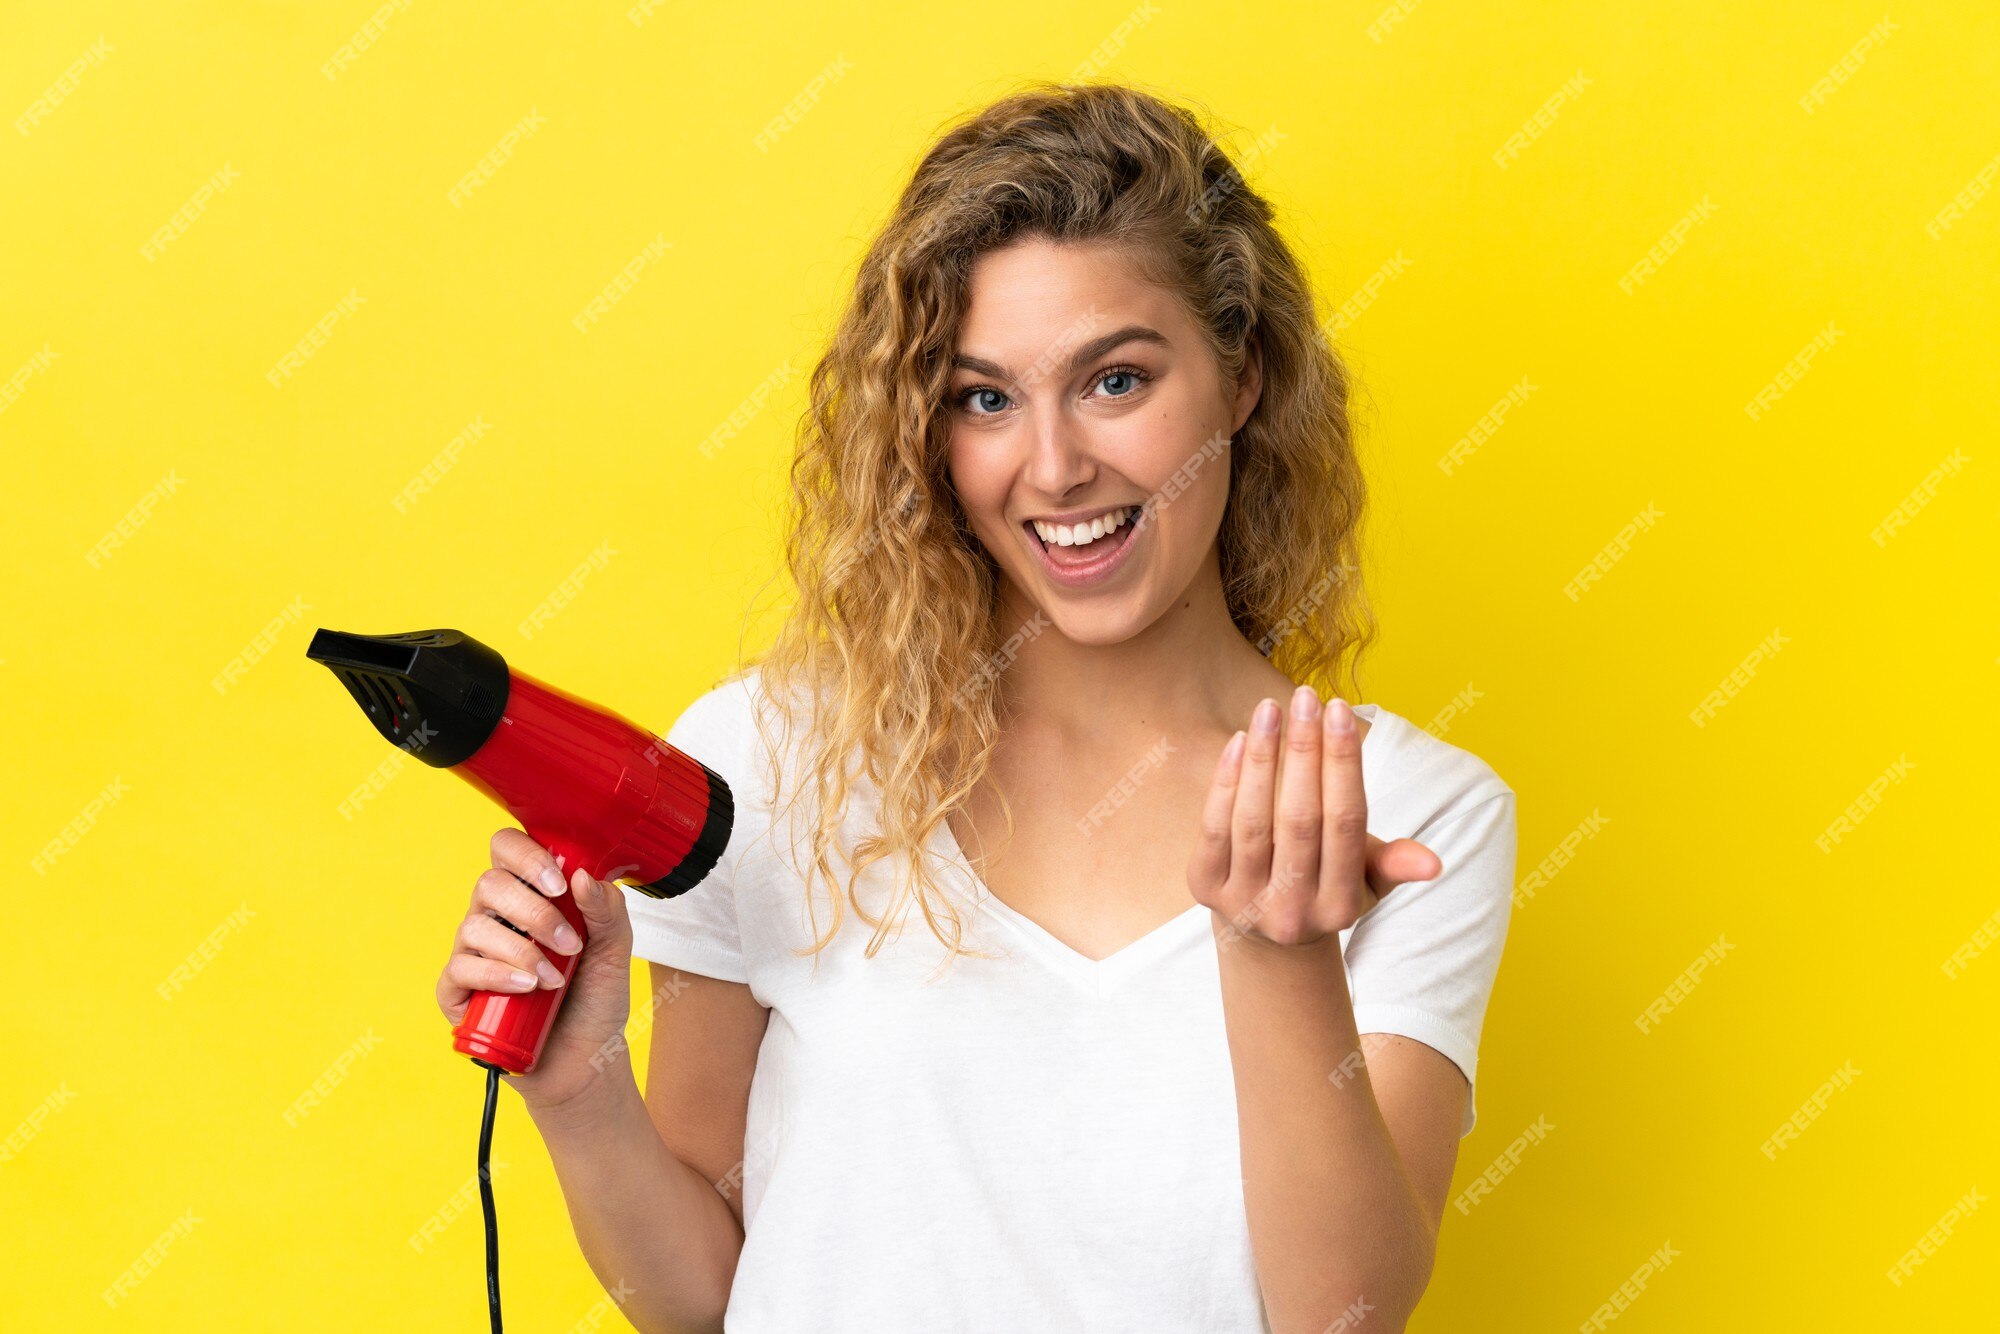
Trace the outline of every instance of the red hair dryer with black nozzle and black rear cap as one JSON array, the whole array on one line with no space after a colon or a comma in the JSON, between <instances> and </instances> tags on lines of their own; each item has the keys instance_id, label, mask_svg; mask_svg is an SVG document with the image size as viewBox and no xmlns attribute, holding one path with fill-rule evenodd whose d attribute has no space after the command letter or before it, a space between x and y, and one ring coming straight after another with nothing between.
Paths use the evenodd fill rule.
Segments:
<instances>
[{"instance_id":1,"label":"red hair dryer with black nozzle and black rear cap","mask_svg":"<svg viewBox=\"0 0 2000 1334\"><path fill-rule=\"evenodd\" d=\"M510 672L468 634L318 630L306 656L340 678L386 740L500 802L566 874L582 866L672 898L728 846L736 806L720 774L608 708ZM576 896L554 902L588 938ZM510 1074L534 1070L578 958L548 960L562 972L556 988L474 992L452 1048Z\"/></svg>"}]
</instances>

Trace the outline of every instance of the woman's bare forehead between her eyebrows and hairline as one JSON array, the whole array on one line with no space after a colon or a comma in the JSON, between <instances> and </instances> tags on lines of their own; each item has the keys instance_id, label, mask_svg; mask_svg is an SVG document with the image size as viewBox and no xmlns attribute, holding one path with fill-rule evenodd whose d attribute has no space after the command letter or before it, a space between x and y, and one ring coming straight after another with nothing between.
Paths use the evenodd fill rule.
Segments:
<instances>
[{"instance_id":1,"label":"woman's bare forehead between her eyebrows and hairline","mask_svg":"<svg viewBox=\"0 0 2000 1334\"><path fill-rule=\"evenodd\" d=\"M1130 252L1044 238L988 250L966 288L958 348L998 362L1056 344L1078 344L1122 324L1150 324L1168 338L1188 330L1180 302L1146 280Z\"/></svg>"}]
</instances>

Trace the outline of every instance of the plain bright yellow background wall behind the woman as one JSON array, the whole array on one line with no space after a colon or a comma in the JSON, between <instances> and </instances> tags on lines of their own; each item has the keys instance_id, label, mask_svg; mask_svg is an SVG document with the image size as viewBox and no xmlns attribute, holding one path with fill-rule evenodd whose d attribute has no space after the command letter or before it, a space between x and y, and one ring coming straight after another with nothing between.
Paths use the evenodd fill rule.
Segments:
<instances>
[{"instance_id":1,"label":"plain bright yellow background wall behind the woman","mask_svg":"<svg viewBox=\"0 0 2000 1334\"><path fill-rule=\"evenodd\" d=\"M422 1254L410 1234L472 1172L480 1076L430 992L500 812L404 772L342 818L390 752L306 640L458 626L664 730L740 636L762 642L744 610L774 572L804 374L916 156L950 116L1094 52L1088 72L1192 98L1236 144L1282 136L1248 176L1328 314L1404 258L1342 336L1386 626L1368 698L1428 722L1478 692L1448 736L1520 792L1524 874L1606 822L1516 912L1458 1188L1538 1118L1552 1130L1448 1212L1416 1328L1578 1328L1664 1244L1676 1258L1616 1328L1990 1318L1990 1206L1886 1278L1954 1200L2000 1188L2000 950L1944 972L2000 908L1976 840L2000 742L2000 198L1926 234L2000 152L1990 6L1892 12L1812 114L1800 98L1880 8L1432 0L1374 36L1392 8L1374 0L628 8L416 0L330 80L366 2L6 6L0 380L44 346L56 360L0 410L0 1136L68 1102L0 1162L0 1324L484 1328L476 1208ZM20 134L98 38L110 52ZM530 112L544 124L454 206ZM1702 200L1714 214L1622 292ZM656 236L664 256L578 332ZM264 372L350 292L364 304L274 388ZM1750 420L1830 322L1840 338ZM1446 474L1524 376L1534 392ZM486 436L398 512L476 418ZM1870 540L1952 450L1970 462ZM1658 524L1568 598L1648 504ZM1774 630L1782 650L1694 726ZM1908 776L1820 852L1900 758ZM254 918L164 1000L240 906ZM1718 938L1722 962L1640 1032ZM1844 1064L1852 1086L1766 1158ZM510 1324L570 1328L602 1290L504 1096ZM108 1308L186 1212L200 1222Z\"/></svg>"}]
</instances>

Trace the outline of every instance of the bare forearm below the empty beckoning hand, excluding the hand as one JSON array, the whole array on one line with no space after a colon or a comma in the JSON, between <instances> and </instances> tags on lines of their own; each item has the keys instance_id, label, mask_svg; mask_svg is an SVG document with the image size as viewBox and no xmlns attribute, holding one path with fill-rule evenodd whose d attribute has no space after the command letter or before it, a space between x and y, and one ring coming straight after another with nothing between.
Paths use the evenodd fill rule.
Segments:
<instances>
[{"instance_id":1,"label":"bare forearm below the empty beckoning hand, excluding the hand","mask_svg":"<svg viewBox=\"0 0 2000 1334\"><path fill-rule=\"evenodd\" d=\"M1216 922L1244 1208L1272 1330L1320 1334L1356 1302L1368 1328L1400 1330L1436 1234L1358 1056L1338 938L1224 942Z\"/></svg>"}]
</instances>

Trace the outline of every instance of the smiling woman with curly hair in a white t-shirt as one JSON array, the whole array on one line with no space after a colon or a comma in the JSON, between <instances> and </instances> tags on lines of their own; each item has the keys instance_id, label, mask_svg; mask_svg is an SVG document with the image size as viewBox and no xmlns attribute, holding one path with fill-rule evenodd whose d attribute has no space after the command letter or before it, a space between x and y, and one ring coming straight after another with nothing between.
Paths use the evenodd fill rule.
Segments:
<instances>
[{"instance_id":1,"label":"smiling woman with curly hair in a white t-shirt","mask_svg":"<svg viewBox=\"0 0 2000 1334\"><path fill-rule=\"evenodd\" d=\"M578 896L510 1082L638 1328L1386 1334L1424 1292L1514 794L1322 704L1362 478L1270 218L1130 88L944 134L812 376L798 604L668 732L722 864L656 902L494 836L438 1000L536 986L576 940L528 886Z\"/></svg>"}]
</instances>

